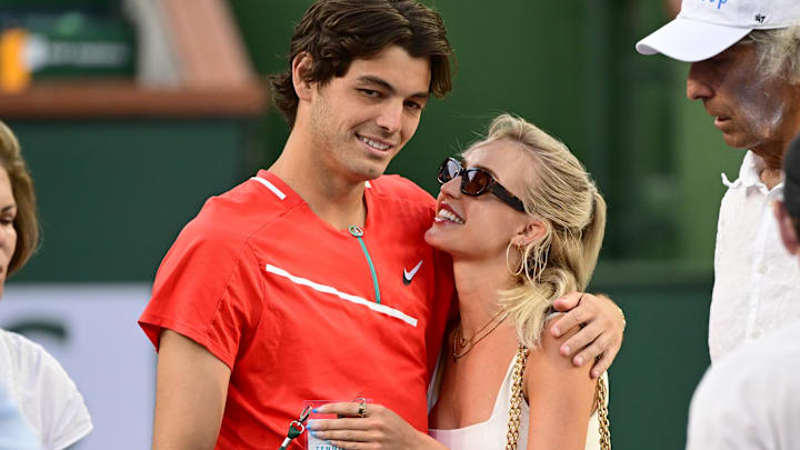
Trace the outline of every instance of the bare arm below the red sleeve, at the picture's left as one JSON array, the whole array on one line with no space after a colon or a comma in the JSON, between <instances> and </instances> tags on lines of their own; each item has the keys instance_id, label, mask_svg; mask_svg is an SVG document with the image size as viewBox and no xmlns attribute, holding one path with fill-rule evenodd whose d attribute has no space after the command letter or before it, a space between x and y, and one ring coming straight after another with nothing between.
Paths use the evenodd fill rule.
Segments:
<instances>
[{"instance_id":1,"label":"bare arm below the red sleeve, at the picture's left","mask_svg":"<svg viewBox=\"0 0 800 450\"><path fill-rule=\"evenodd\" d=\"M153 450L213 449L230 369L172 330L161 331L158 361Z\"/></svg>"}]
</instances>

